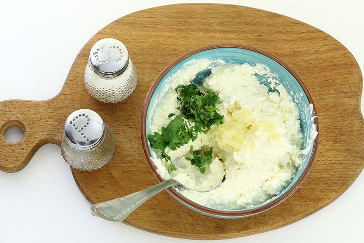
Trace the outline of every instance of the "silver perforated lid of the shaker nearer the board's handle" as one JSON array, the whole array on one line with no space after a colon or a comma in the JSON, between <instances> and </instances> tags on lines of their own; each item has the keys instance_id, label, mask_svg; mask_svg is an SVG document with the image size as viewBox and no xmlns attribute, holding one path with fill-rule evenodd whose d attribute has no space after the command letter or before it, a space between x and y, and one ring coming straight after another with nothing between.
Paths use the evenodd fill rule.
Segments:
<instances>
[{"instance_id":1,"label":"silver perforated lid of the shaker nearer the board's handle","mask_svg":"<svg viewBox=\"0 0 364 243\"><path fill-rule=\"evenodd\" d=\"M105 126L99 114L89 109L80 109L68 116L64 132L74 147L86 149L96 146L102 140Z\"/></svg>"}]
</instances>

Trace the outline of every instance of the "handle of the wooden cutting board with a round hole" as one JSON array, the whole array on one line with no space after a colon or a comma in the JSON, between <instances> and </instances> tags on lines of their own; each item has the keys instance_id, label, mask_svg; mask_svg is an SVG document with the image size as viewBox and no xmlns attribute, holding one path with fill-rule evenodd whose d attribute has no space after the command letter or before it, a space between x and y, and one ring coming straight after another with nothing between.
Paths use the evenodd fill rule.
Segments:
<instances>
[{"instance_id":1,"label":"handle of the wooden cutting board with a round hole","mask_svg":"<svg viewBox=\"0 0 364 243\"><path fill-rule=\"evenodd\" d=\"M54 105L54 99L0 102L0 170L19 171L44 144L59 145L63 127L61 124L64 121L54 112L54 108L52 111ZM20 141L6 141L4 133L11 126L18 126L23 130L24 136Z\"/></svg>"}]
</instances>

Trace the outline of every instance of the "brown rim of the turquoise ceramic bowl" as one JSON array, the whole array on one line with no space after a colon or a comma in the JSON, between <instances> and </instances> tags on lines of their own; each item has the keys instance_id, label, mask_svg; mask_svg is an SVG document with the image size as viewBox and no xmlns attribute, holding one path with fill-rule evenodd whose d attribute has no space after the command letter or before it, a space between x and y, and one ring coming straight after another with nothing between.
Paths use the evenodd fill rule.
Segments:
<instances>
[{"instance_id":1,"label":"brown rim of the turquoise ceramic bowl","mask_svg":"<svg viewBox=\"0 0 364 243\"><path fill-rule=\"evenodd\" d=\"M298 83L301 85L303 91L305 92L308 101L313 104L313 112L314 112L314 120L315 120L315 124L316 124L316 129L317 129L317 136L315 138L314 141L314 145L313 145L313 150L312 150L312 154L310 157L310 160L305 168L305 170L303 171L301 177L296 181L295 184L293 184L291 186L291 188L289 188L287 190L287 192L285 192L284 194L282 194L280 197L272 200L271 202L262 205L261 207L257 207L257 208L253 208L253 209L242 209L242 210L231 210L231 211L221 211L221 210L215 210L215 209L210 209L201 205L198 205L186 198L184 198L181 194L179 194L176 190L174 190L172 187L168 188L168 192L170 194L172 194L174 197L178 198L179 200L181 200L184 204L188 205L189 207L192 207L196 210L199 210L201 212L210 214L210 215L215 215L215 216L223 216L223 217L244 217L244 216L250 216L250 215L254 215L254 214L258 214L261 213L263 211L266 211L270 208L273 208L274 206L280 204L281 202L283 202L284 200L286 200L289 196L291 196L297 189L299 186L301 186L301 184L303 183L303 181L306 179L306 177L308 176L314 161L315 161L315 157L317 154L317 150L318 150L318 146L319 146L319 120L317 117L317 110L316 110L316 106L315 103L312 99L312 96L310 94L310 92L308 91L306 85L303 83L302 79L297 75L297 73L291 68L289 67L286 63L284 63L281 59L277 58L276 56L261 50L259 48L253 47L253 46L248 46L248 45L242 45L242 44L229 44L229 43L222 43L222 44L213 44L213 45L206 45L200 48L197 48L195 50L192 50L188 53L183 54L182 56L180 56L179 58L177 58L176 60L174 60L173 62L171 62L156 78L156 80L153 82L151 88L148 91L148 94L144 100L144 104L143 104L143 108L142 108L142 114L141 114L141 122L140 122L140 132L141 132L141 140L142 140L142 146L143 146L143 150L144 150L144 154L146 156L146 159L148 161L148 164L151 168L151 170L153 171L154 175L156 176L157 180L159 182L163 182L164 179L158 174L157 172L157 168L155 167L153 161L151 160L151 154L149 152L148 149L148 142L147 142L147 137L146 137L146 130L145 130L145 125L146 125L146 116L147 116L147 110L148 110L148 105L149 102L151 100L151 97L153 95L154 90L156 89L157 85L159 84L159 82L162 80L162 78L174 67L176 66L179 62L181 62L182 60L186 59L187 57L196 54L198 52L201 51L205 51L205 50L209 50L209 49L215 49L215 48L224 48L224 47L232 47L232 48L241 48L241 49L247 49L247 50L251 50L251 51L255 51L257 53L260 53L262 55L265 55L271 59L273 59L274 61L278 62L281 66L283 66L287 71L289 71L292 76L298 81Z\"/></svg>"}]
</instances>

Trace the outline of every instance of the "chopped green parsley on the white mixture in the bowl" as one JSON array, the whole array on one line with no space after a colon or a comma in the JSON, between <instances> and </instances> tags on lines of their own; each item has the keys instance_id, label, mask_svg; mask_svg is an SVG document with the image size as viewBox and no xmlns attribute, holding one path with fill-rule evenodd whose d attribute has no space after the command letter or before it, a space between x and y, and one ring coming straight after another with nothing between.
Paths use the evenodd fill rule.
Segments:
<instances>
[{"instance_id":1,"label":"chopped green parsley on the white mixture in the bowl","mask_svg":"<svg viewBox=\"0 0 364 243\"><path fill-rule=\"evenodd\" d=\"M216 104L221 104L221 101L216 94L208 90L206 94L201 92L196 85L179 85L176 88L177 93L180 95L177 100L181 101L177 110L181 110L181 114L176 116L166 127L162 127L161 134L154 133L148 135L148 140L151 147L161 150L160 158L171 162L169 169L171 171L177 170L172 164L171 157L167 155L165 149L168 147L172 150L177 150L182 145L196 140L197 134L207 133L212 125L221 124L223 116L218 113ZM175 116L175 113L168 115L169 118ZM199 155L200 151L193 151L193 146L190 148L192 158L186 158L191 161L192 165L200 168L200 172L204 173L205 164L211 163L212 148L206 150L203 155Z\"/></svg>"}]
</instances>

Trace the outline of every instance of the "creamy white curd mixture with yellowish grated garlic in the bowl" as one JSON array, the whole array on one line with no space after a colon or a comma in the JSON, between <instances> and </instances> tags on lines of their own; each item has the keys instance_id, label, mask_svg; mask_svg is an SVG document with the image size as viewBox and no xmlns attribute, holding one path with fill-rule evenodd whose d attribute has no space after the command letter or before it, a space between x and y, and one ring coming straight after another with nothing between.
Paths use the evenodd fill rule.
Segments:
<instances>
[{"instance_id":1,"label":"creamy white curd mixture with yellowish grated garlic in the bowl","mask_svg":"<svg viewBox=\"0 0 364 243\"><path fill-rule=\"evenodd\" d=\"M161 92L164 96L159 97L163 100L153 107L151 133L160 133L161 128L168 125L174 118L168 118L168 114L180 114L176 110L180 101L175 88L180 84L188 85L209 62L207 59L191 60L183 70L170 77L169 86ZM274 78L269 79L271 88L279 93L269 92L254 74L273 76L264 65L213 67L201 89L211 89L219 95L222 103L216 107L224 116L222 124L212 126L207 134L200 133L195 141L189 141L176 151L166 149L172 161L178 160L182 166L172 173L172 177L189 188L195 188L196 184L213 185L226 175L224 183L209 192L180 190L184 197L197 204L219 210L259 205L278 195L291 182L297 167L302 164L302 154L310 150L310 147L300 149L303 135L298 108L292 97ZM311 145L315 132L313 127ZM203 175L185 159L185 156L191 156L190 146L193 150L213 148L213 160ZM158 150L152 153L153 161L160 175L168 179L171 177L167 170L170 162L159 159L159 153Z\"/></svg>"}]
</instances>

